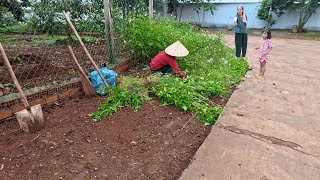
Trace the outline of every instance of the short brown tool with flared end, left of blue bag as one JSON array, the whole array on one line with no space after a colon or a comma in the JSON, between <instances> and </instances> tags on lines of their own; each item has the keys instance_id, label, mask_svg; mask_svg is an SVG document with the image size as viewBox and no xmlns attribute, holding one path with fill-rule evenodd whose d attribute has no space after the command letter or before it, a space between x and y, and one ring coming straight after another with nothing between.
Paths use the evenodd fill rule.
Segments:
<instances>
[{"instance_id":1,"label":"short brown tool with flared end, left of blue bag","mask_svg":"<svg viewBox=\"0 0 320 180\"><path fill-rule=\"evenodd\" d=\"M86 74L84 73L83 69L81 68L76 56L74 55L74 52L71 48L71 46L68 46L69 49L69 53L72 57L72 60L74 61L74 63L76 64L77 70L78 70L78 75L81 79L81 84L82 84L82 88L84 93L87 96L97 96L96 91L94 90L92 83L89 81L88 77L86 76Z\"/></svg>"}]
</instances>

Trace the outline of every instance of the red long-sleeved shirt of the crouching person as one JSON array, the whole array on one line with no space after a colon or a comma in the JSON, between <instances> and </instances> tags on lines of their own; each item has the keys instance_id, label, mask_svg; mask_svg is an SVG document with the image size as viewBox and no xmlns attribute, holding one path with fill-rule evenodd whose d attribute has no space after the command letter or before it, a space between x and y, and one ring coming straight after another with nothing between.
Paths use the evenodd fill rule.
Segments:
<instances>
[{"instance_id":1,"label":"red long-sleeved shirt of the crouching person","mask_svg":"<svg viewBox=\"0 0 320 180\"><path fill-rule=\"evenodd\" d=\"M153 71L157 71L165 65L169 65L178 76L182 78L187 77L183 72L180 71L176 58L166 54L164 51L158 53L154 58L151 59L150 62L150 68Z\"/></svg>"}]
</instances>

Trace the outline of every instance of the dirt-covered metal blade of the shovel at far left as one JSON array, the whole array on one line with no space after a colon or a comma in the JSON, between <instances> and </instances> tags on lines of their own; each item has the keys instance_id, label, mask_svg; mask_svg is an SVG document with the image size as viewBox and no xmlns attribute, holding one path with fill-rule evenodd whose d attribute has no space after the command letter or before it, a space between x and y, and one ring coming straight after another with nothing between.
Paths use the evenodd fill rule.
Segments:
<instances>
[{"instance_id":1,"label":"dirt-covered metal blade of the shovel at far left","mask_svg":"<svg viewBox=\"0 0 320 180\"><path fill-rule=\"evenodd\" d=\"M43 112L41 105L30 107L30 111L24 109L15 113L19 122L20 128L24 132L36 132L41 129L43 125Z\"/></svg>"}]
</instances>

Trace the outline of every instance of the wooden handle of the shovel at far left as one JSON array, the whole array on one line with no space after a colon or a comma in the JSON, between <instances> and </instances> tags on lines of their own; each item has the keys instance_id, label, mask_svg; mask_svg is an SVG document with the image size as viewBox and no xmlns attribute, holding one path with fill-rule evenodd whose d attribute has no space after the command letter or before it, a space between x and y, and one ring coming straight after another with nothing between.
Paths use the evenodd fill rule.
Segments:
<instances>
[{"instance_id":1,"label":"wooden handle of the shovel at far left","mask_svg":"<svg viewBox=\"0 0 320 180\"><path fill-rule=\"evenodd\" d=\"M20 100L22 101L22 103L23 103L23 105L24 105L24 107L25 107L26 109L30 108L29 103L28 103L28 101L27 101L27 98L26 98L26 96L24 95L24 93L23 93L23 91L22 91L22 88L21 88L21 86L20 86L20 84L19 84L19 82L18 82L18 80L17 80L17 77L16 77L16 75L15 75L14 72L13 72L13 69L12 69L12 67L11 67L11 64L10 64L9 60L8 60L8 57L7 57L6 53L4 52L4 49L3 49L3 47L2 47L1 42L0 42L0 51L1 51L2 58L3 58L3 60L4 60L4 64L6 65L7 69L9 70L10 76L11 76L14 84L16 85L16 87L17 87L17 89L18 89L18 91L19 91Z\"/></svg>"}]
</instances>

